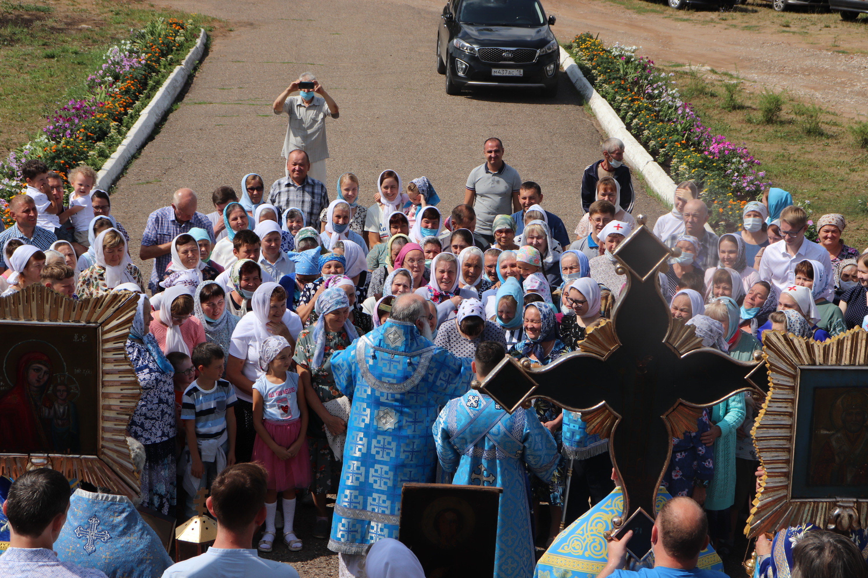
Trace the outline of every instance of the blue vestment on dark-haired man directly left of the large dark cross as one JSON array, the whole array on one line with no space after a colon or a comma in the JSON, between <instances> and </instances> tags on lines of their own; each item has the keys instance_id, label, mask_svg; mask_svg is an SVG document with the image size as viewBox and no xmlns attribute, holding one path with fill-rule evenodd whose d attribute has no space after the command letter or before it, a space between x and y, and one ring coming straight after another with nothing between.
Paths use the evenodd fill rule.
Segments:
<instances>
[{"instance_id":1,"label":"blue vestment on dark-haired man directly left of the large dark cross","mask_svg":"<svg viewBox=\"0 0 868 578\"><path fill-rule=\"evenodd\" d=\"M452 484L503 488L497 508L495 578L530 578L535 548L530 530L529 471L549 482L557 444L533 409L512 415L476 391L452 399L434 424L437 457Z\"/></svg>"}]
</instances>

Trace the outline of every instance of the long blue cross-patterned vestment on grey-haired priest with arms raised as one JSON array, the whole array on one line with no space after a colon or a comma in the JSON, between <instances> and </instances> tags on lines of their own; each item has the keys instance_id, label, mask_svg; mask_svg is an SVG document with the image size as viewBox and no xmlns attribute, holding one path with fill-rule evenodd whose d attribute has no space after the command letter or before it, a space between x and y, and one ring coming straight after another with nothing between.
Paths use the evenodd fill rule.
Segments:
<instances>
[{"instance_id":1,"label":"long blue cross-patterned vestment on grey-haired priest with arms raised","mask_svg":"<svg viewBox=\"0 0 868 578\"><path fill-rule=\"evenodd\" d=\"M434 481L431 425L440 407L469 389L473 373L470 359L391 319L332 354L332 372L352 409L328 547L362 554L380 538L398 538L404 483Z\"/></svg>"}]
</instances>

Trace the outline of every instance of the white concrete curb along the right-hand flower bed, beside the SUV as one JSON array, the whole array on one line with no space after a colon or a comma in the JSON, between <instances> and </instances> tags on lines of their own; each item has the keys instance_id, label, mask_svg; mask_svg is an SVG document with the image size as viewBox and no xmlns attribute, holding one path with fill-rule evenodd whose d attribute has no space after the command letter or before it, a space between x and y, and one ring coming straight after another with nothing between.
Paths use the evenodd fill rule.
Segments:
<instances>
[{"instance_id":1,"label":"white concrete curb along the right-hand flower bed, beside the SUV","mask_svg":"<svg viewBox=\"0 0 868 578\"><path fill-rule=\"evenodd\" d=\"M674 180L667 175L660 165L654 162L654 158L648 154L645 147L628 131L621 117L615 113L615 109L591 86L567 51L563 47L558 48L561 50L561 68L569 76L569 80L573 82L579 94L582 94L582 97L588 102L597 120L600 121L602 129L609 137L624 141L624 160L634 171L641 174L648 184L648 188L664 205L671 209L675 196Z\"/></svg>"}]
</instances>

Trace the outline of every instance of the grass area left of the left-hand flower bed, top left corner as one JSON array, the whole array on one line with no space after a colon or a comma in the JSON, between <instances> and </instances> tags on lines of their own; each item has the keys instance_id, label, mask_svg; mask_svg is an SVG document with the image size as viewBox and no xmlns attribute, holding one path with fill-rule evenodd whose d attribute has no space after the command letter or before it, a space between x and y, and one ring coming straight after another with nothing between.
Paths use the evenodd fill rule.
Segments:
<instances>
[{"instance_id":1,"label":"grass area left of the left-hand flower bed, top left corner","mask_svg":"<svg viewBox=\"0 0 868 578\"><path fill-rule=\"evenodd\" d=\"M220 24L207 16L113 0L0 1L0 154L30 140L45 116L85 94L105 50L155 16Z\"/></svg>"}]
</instances>

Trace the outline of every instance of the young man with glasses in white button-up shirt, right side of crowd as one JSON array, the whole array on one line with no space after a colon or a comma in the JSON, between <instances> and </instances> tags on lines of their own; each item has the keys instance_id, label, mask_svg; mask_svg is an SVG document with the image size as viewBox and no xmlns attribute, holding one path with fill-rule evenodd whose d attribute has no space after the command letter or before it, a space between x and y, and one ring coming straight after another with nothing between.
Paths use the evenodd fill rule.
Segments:
<instances>
[{"instance_id":1,"label":"young man with glasses in white button-up shirt, right side of crowd","mask_svg":"<svg viewBox=\"0 0 868 578\"><path fill-rule=\"evenodd\" d=\"M825 268L827 281L820 296L831 300L834 276L829 252L822 245L805 238L807 229L808 216L804 209L790 205L780 211L780 235L784 238L770 244L763 251L759 261L759 278L767 283L773 283L779 291L783 291L796 284L796 265L805 259L811 259L822 263Z\"/></svg>"}]
</instances>

